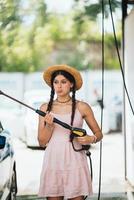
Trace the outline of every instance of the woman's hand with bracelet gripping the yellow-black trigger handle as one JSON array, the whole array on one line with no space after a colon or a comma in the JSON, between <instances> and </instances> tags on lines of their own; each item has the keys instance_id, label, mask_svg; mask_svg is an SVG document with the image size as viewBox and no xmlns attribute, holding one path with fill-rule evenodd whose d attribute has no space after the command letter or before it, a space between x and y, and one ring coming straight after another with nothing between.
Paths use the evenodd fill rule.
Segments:
<instances>
[{"instance_id":1,"label":"woman's hand with bracelet gripping the yellow-black trigger handle","mask_svg":"<svg viewBox=\"0 0 134 200\"><path fill-rule=\"evenodd\" d=\"M95 135L89 136L85 135L83 137L76 137L76 141L81 145L88 145L97 142L97 137Z\"/></svg>"}]
</instances>

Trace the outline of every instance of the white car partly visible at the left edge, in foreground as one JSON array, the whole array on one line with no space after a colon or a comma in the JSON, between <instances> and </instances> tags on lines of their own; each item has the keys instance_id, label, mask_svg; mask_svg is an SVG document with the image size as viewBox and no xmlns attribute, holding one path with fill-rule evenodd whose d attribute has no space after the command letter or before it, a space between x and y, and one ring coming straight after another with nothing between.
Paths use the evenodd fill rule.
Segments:
<instances>
[{"instance_id":1,"label":"white car partly visible at the left edge, in foreground","mask_svg":"<svg viewBox=\"0 0 134 200\"><path fill-rule=\"evenodd\" d=\"M11 132L0 121L0 199L15 200L17 193L16 161Z\"/></svg>"}]
</instances>

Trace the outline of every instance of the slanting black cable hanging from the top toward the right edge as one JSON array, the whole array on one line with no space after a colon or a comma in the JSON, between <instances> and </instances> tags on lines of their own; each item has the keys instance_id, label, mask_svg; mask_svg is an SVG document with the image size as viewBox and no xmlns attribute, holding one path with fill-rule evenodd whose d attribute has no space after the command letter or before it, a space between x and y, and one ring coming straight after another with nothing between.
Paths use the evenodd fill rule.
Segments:
<instances>
[{"instance_id":1,"label":"slanting black cable hanging from the top toward the right edge","mask_svg":"<svg viewBox=\"0 0 134 200\"><path fill-rule=\"evenodd\" d=\"M109 8L110 8L110 15L111 15L111 20L112 20L112 27L113 27L113 34L114 34L114 42L115 42L115 47L116 47L116 51L117 51L117 55L118 55L118 59L119 59L119 65L120 65L120 69L121 69L121 73L122 73L122 79L123 79L123 85L124 85L124 89L128 98L128 102L131 108L131 111L134 115L134 109L130 100L130 96L127 90L127 86L126 86L126 82L125 82L125 76L124 76L124 71L123 71L123 67L122 67L122 63L121 63L121 57L120 57L120 53L119 53L119 48L118 48L118 42L117 42L117 37L116 37L116 32L115 32L115 26L114 26L114 20L113 20L113 13L112 13L112 6L111 6L111 0L109 0Z\"/></svg>"}]
</instances>

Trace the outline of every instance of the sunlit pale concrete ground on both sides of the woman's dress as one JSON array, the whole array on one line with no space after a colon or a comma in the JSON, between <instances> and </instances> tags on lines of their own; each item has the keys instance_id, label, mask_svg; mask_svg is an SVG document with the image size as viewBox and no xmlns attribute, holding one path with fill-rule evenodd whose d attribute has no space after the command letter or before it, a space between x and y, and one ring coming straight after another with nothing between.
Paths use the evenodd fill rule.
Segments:
<instances>
[{"instance_id":1,"label":"sunlit pale concrete ground on both sides of the woman's dress","mask_svg":"<svg viewBox=\"0 0 134 200\"><path fill-rule=\"evenodd\" d=\"M128 184L126 183L124 177L125 172L124 172L123 140L124 139L122 133L110 133L104 135L102 142L102 172L101 172L100 199L109 199L109 200L127 199L126 194L128 191ZM16 142L16 148L17 148L16 162L18 163L17 171L18 171L18 184L19 184L17 200L38 199L36 195L39 186L39 174L40 174L43 152L40 150L36 151L36 150L26 149L24 144L20 145L18 141ZM93 190L94 190L94 196L90 197L90 199L95 200L98 199L97 194L99 188L100 143L92 145L90 148L90 152L93 165ZM34 164L34 162L36 164ZM21 163L23 163L23 166ZM37 166L37 163L39 163L39 166ZM26 169L24 169L24 166L26 167ZM23 167L23 176L22 176L22 167ZM37 173L35 173L35 171Z\"/></svg>"}]
</instances>

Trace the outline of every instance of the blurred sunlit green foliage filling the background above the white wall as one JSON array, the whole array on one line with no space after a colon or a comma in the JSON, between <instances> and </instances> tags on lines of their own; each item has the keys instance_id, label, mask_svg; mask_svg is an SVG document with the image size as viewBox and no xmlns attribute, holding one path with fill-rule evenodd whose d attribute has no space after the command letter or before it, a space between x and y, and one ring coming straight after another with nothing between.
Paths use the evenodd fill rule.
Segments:
<instances>
[{"instance_id":1,"label":"blurred sunlit green foliage filling the background above the white wall","mask_svg":"<svg viewBox=\"0 0 134 200\"><path fill-rule=\"evenodd\" d=\"M101 33L89 16L95 19L98 5L85 1L82 9L58 15L47 12L44 0L29 0L26 6L20 0L0 2L0 71L34 72L56 63L99 69ZM118 68L112 34L105 37L105 50L106 68Z\"/></svg>"}]
</instances>

